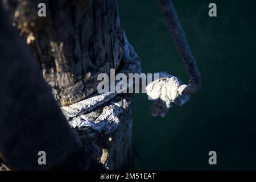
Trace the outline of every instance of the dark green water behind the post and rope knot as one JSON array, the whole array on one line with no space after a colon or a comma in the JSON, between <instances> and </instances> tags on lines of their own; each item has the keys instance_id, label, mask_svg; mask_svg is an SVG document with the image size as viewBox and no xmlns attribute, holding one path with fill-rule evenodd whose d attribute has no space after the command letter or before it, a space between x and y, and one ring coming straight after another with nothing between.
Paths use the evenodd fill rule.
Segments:
<instances>
[{"instance_id":1,"label":"dark green water behind the post and rope knot","mask_svg":"<svg viewBox=\"0 0 256 182\"><path fill-rule=\"evenodd\" d=\"M144 73L188 76L155 0L118 0L122 26ZM208 16L210 2L217 17ZM256 169L256 1L174 0L202 88L166 117L133 101L134 169ZM208 152L217 152L217 165Z\"/></svg>"}]
</instances>

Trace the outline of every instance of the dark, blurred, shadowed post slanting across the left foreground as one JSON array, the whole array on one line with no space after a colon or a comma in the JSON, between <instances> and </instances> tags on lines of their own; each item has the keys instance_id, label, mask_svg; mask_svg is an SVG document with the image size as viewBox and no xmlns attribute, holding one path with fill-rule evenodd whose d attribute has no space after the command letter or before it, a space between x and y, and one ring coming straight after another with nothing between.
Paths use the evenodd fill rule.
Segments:
<instances>
[{"instance_id":1,"label":"dark, blurred, shadowed post slanting across the left foreground","mask_svg":"<svg viewBox=\"0 0 256 182\"><path fill-rule=\"evenodd\" d=\"M0 163L12 170L81 169L92 163L1 6L0 27ZM81 150L88 153L85 160L68 162ZM39 151L46 152L46 165L39 165Z\"/></svg>"}]
</instances>

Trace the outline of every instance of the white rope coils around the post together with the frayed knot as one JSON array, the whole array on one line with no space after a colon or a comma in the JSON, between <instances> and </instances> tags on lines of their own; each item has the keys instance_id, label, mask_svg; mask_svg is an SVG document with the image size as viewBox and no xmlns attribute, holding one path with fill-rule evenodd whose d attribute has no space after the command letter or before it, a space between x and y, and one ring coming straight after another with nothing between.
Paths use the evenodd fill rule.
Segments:
<instances>
[{"instance_id":1,"label":"white rope coils around the post together with the frayed knot","mask_svg":"<svg viewBox=\"0 0 256 182\"><path fill-rule=\"evenodd\" d=\"M141 73L141 59L128 42L124 34L122 59L125 62L121 73ZM129 84L127 84L129 85ZM187 85L179 78L165 72L159 73L159 79L152 81L146 87L149 97L154 99L151 107L152 115L164 116L172 103L183 105L189 100L188 94L181 94ZM103 93L95 94L80 102L61 107L69 125L75 129L84 129L90 137L96 133L111 134L118 126L119 118L131 101L131 94Z\"/></svg>"}]
</instances>

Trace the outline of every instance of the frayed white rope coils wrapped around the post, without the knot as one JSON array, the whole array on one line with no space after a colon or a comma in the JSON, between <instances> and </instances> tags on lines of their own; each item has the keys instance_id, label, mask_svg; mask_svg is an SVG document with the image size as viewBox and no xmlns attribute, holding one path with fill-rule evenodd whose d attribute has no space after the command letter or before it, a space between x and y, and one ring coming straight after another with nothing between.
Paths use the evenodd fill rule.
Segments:
<instances>
[{"instance_id":1,"label":"frayed white rope coils wrapped around the post, without the knot","mask_svg":"<svg viewBox=\"0 0 256 182\"><path fill-rule=\"evenodd\" d=\"M122 59L125 66L121 73L141 73L141 59L137 56L134 48L129 44L125 32L124 48ZM61 107L63 114L67 118L69 125L76 129L83 129L89 127L95 132L104 132L106 134L112 133L118 126L120 115L129 107L131 101L130 94L122 94L117 96L117 93L96 93L93 97L86 98L80 102L69 106ZM93 120L86 117L90 111L101 107L101 109L94 111L94 115L98 115ZM92 131L92 130L86 130ZM91 137L95 133L89 134Z\"/></svg>"}]
</instances>

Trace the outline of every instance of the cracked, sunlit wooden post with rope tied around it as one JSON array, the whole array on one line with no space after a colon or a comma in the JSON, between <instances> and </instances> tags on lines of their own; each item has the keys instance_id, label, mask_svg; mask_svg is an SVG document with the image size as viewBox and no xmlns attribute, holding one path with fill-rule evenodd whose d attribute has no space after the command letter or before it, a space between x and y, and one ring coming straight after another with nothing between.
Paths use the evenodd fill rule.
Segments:
<instances>
[{"instance_id":1,"label":"cracked, sunlit wooden post with rope tied around it","mask_svg":"<svg viewBox=\"0 0 256 182\"><path fill-rule=\"evenodd\" d=\"M40 2L46 3L46 17L37 15ZM110 68L118 72L121 67L124 38L114 0L4 0L3 5L59 106L88 98L97 92L99 73L109 74ZM123 115L108 148L109 169L129 167L130 107Z\"/></svg>"}]
</instances>

